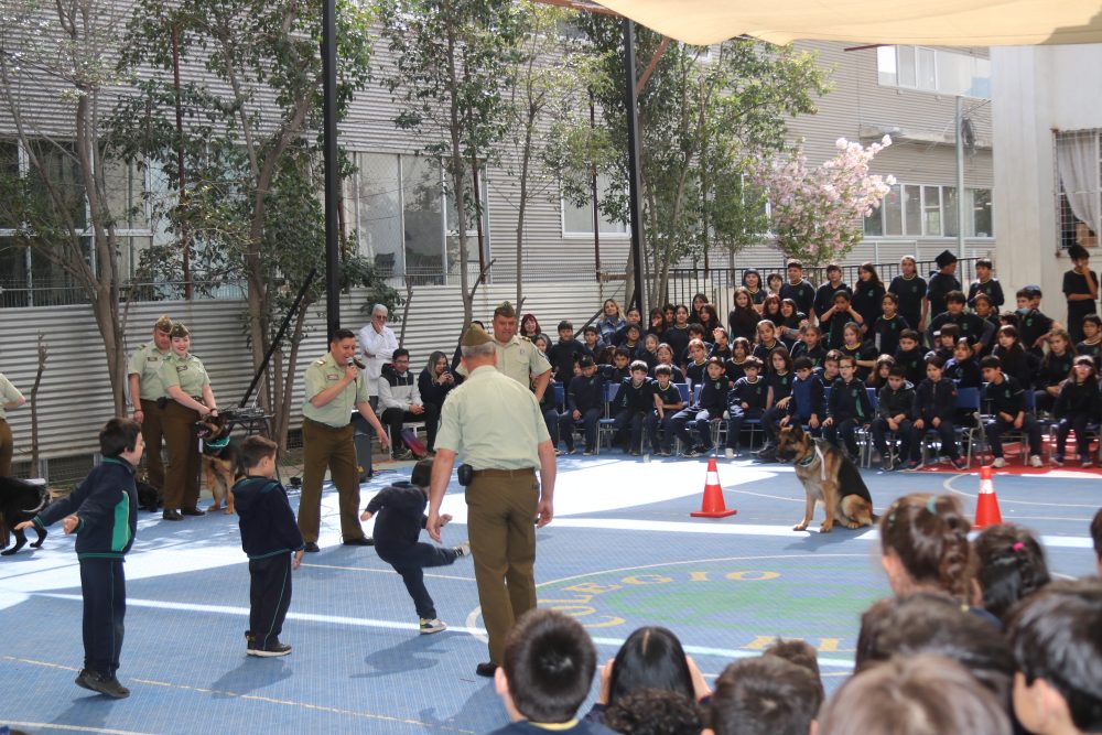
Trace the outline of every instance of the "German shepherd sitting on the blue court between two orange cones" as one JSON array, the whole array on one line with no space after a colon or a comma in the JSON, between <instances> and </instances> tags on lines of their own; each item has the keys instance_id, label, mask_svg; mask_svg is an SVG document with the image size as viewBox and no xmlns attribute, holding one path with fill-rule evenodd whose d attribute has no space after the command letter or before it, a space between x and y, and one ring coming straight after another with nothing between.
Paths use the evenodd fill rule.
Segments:
<instances>
[{"instance_id":1,"label":"German shepherd sitting on the blue court between two orange cones","mask_svg":"<svg viewBox=\"0 0 1102 735\"><path fill-rule=\"evenodd\" d=\"M822 439L808 435L799 424L790 424L778 432L777 456L796 464L796 476L803 484L807 505L803 520L792 527L803 531L814 515L815 501L823 504L825 518L819 528L829 533L834 523L846 528L872 526L873 498L861 478L857 467L841 450Z\"/></svg>"}]
</instances>

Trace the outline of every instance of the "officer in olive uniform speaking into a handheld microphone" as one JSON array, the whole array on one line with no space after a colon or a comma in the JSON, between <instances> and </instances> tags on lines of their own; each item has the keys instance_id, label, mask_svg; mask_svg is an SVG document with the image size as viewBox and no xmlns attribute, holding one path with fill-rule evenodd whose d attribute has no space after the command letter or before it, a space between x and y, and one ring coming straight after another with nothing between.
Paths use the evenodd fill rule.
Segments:
<instances>
[{"instance_id":1,"label":"officer in olive uniform speaking into a handheld microphone","mask_svg":"<svg viewBox=\"0 0 1102 735\"><path fill-rule=\"evenodd\" d=\"M355 364L356 335L337 329L329 352L306 368L306 400L302 404L302 498L299 530L306 551L317 551L321 526L322 480L328 468L341 499L341 536L345 545L369 547L359 525L359 467L353 443L352 412L356 410L375 429L387 448L387 432L371 410L367 381Z\"/></svg>"}]
</instances>

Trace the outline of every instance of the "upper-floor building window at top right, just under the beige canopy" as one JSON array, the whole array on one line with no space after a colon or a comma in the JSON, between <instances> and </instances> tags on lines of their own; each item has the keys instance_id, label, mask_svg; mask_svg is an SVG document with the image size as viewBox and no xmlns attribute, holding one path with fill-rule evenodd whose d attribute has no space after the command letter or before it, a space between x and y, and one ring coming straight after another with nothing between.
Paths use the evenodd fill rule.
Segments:
<instances>
[{"instance_id":1,"label":"upper-floor building window at top right, just under the beige canopy","mask_svg":"<svg viewBox=\"0 0 1102 735\"><path fill-rule=\"evenodd\" d=\"M876 73L880 85L939 95L991 97L991 61L927 46L879 46Z\"/></svg>"}]
</instances>

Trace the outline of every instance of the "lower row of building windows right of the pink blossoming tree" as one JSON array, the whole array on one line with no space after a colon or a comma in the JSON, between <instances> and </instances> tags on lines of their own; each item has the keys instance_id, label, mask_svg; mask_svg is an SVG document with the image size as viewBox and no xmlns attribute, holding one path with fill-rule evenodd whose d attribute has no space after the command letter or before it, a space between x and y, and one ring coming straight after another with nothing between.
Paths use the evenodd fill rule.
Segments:
<instances>
[{"instance_id":1,"label":"lower row of building windows right of the pink blossoming tree","mask_svg":"<svg viewBox=\"0 0 1102 735\"><path fill-rule=\"evenodd\" d=\"M993 237L991 190L964 194L964 236ZM957 187L896 184L864 226L866 237L957 237Z\"/></svg>"}]
</instances>

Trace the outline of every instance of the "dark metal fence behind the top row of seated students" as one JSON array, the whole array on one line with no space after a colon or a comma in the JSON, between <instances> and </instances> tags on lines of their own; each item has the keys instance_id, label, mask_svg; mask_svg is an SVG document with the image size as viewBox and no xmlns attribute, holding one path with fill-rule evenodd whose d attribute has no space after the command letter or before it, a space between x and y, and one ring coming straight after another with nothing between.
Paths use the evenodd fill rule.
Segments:
<instances>
[{"instance_id":1,"label":"dark metal fence behind the top row of seated students","mask_svg":"<svg viewBox=\"0 0 1102 735\"><path fill-rule=\"evenodd\" d=\"M975 278L975 261L977 258L962 258L958 261L957 278L966 284ZM930 273L938 270L938 266L932 260L919 260L918 273L923 278L929 278ZM899 262L874 263L880 280L887 285L896 275L899 275ZM842 280L853 285L857 279L860 263L841 266ZM770 273L779 273L782 279L788 280L784 268L778 268L776 263L766 267L741 266L738 268L676 268L670 270L669 288L667 289L667 301L672 304L691 304L692 298L698 293L703 293L712 303L717 303L720 294L730 293L735 287L743 284L743 275L746 271L757 271L761 275L761 287L765 288L766 279ZM827 267L804 268L803 278L814 285L819 285L827 280ZM720 304L724 309L730 306Z\"/></svg>"}]
</instances>

